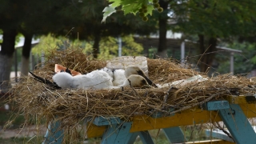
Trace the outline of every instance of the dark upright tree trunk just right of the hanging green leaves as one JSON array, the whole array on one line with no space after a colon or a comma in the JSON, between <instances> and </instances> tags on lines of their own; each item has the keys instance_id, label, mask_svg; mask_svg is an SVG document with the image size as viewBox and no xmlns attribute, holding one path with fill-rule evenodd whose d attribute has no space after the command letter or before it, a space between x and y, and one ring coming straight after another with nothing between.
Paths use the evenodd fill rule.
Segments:
<instances>
[{"instance_id":1,"label":"dark upright tree trunk just right of the hanging green leaves","mask_svg":"<svg viewBox=\"0 0 256 144\"><path fill-rule=\"evenodd\" d=\"M158 41L158 52L166 50L166 33L167 33L167 20L168 16L165 10L168 9L169 1L159 0L159 5L164 10L158 17L158 26L159 26L159 41ZM166 54L165 54L166 55Z\"/></svg>"}]
</instances>

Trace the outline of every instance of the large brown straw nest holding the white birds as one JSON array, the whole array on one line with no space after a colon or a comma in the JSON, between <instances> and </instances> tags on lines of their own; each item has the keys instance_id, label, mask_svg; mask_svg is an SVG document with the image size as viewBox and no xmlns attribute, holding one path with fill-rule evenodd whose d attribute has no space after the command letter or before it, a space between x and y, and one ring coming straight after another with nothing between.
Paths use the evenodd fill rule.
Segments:
<instances>
[{"instance_id":1,"label":"large brown straw nest holding the white birds","mask_svg":"<svg viewBox=\"0 0 256 144\"><path fill-rule=\"evenodd\" d=\"M55 63L82 74L106 66L106 61L91 60L90 55L83 54L80 49L53 50L46 59L42 67L34 70L34 74L49 80L52 80ZM182 68L170 59L147 59L147 64L149 77L154 83L174 82L199 74L195 70ZM206 78L206 75L201 75ZM46 123L56 120L58 116L62 126L75 127L85 118L119 117L129 121L134 115L150 115L156 111L173 114L230 94L255 94L254 88L248 85L256 83L242 76L223 74L173 88L52 90L26 77L14 86L12 99L19 114L30 115L28 118L45 118Z\"/></svg>"}]
</instances>

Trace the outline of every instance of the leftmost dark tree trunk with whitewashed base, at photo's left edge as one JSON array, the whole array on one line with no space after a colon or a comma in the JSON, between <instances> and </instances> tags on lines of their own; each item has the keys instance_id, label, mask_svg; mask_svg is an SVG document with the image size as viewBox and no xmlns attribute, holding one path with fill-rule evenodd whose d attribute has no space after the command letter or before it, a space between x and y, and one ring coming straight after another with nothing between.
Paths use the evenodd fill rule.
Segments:
<instances>
[{"instance_id":1,"label":"leftmost dark tree trunk with whitewashed base, at photo's left edge","mask_svg":"<svg viewBox=\"0 0 256 144\"><path fill-rule=\"evenodd\" d=\"M10 90L10 70L13 62L16 30L3 30L0 51L0 93Z\"/></svg>"}]
</instances>

